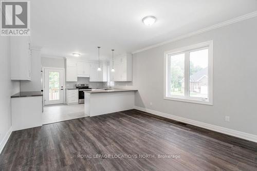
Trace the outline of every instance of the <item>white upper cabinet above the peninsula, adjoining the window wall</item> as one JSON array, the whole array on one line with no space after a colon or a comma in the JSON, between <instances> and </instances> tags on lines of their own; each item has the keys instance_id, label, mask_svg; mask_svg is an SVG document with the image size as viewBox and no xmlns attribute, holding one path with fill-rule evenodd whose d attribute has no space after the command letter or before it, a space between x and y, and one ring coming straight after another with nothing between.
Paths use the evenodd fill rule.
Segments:
<instances>
[{"instance_id":1,"label":"white upper cabinet above the peninsula, adjoining the window wall","mask_svg":"<svg viewBox=\"0 0 257 171\"><path fill-rule=\"evenodd\" d=\"M112 63L110 69L112 69ZM132 54L125 54L114 58L114 72L111 81L132 81Z\"/></svg>"}]
</instances>

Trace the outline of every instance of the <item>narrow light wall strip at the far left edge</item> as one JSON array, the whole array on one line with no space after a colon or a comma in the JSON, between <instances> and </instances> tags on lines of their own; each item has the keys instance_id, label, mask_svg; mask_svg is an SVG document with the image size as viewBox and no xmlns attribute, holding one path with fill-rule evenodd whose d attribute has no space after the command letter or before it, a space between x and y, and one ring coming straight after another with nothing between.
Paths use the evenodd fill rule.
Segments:
<instances>
[{"instance_id":1,"label":"narrow light wall strip at the far left edge","mask_svg":"<svg viewBox=\"0 0 257 171\"><path fill-rule=\"evenodd\" d=\"M11 95L19 92L19 82L10 75L10 38L0 37L0 152L11 128Z\"/></svg>"}]
</instances>

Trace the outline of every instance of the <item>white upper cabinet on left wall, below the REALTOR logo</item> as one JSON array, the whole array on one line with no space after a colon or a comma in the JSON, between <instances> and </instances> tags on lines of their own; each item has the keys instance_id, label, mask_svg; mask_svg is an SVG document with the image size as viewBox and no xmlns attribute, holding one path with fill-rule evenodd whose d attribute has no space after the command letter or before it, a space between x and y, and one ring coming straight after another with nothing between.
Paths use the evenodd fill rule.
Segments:
<instances>
[{"instance_id":1,"label":"white upper cabinet on left wall, below the REALTOR logo","mask_svg":"<svg viewBox=\"0 0 257 171\"><path fill-rule=\"evenodd\" d=\"M10 37L11 80L31 80L31 42L29 36Z\"/></svg>"}]
</instances>

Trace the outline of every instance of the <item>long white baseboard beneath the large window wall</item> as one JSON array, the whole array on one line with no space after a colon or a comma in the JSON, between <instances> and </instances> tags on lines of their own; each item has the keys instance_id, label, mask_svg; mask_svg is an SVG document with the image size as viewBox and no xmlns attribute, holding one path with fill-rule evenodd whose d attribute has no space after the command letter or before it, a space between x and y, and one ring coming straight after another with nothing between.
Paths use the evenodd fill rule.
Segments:
<instances>
[{"instance_id":1,"label":"long white baseboard beneath the large window wall","mask_svg":"<svg viewBox=\"0 0 257 171\"><path fill-rule=\"evenodd\" d=\"M160 117L169 118L169 119L172 119L172 120L175 120L175 121L179 121L179 122L187 123L187 124L190 124L190 125L198 126L198 127L201 127L201 128L206 128L206 129L213 130L213 131L216 131L216 132L221 132L223 134L227 134L227 135L234 136L234 137L237 137L237 138L242 138L242 139L245 139L245 140L248 140L248 141L257 142L257 136L256 135L248 134L246 132L241 132L241 131L237 131L237 130L233 130L233 129L228 129L228 128L224 128L224 127L221 127L221 126L211 125L211 124L207 124L207 123L204 123L204 122L194 121L194 120L191 120L191 119L174 116L174 115L170 115L168 113L163 113L163 112L159 112L159 111L155 111L155 110L151 110L151 109L146 109L146 108L143 108L143 107L135 106L135 109L145 111L145 112L148 112L148 113L152 113L153 115L157 115L157 116L160 116Z\"/></svg>"}]
</instances>

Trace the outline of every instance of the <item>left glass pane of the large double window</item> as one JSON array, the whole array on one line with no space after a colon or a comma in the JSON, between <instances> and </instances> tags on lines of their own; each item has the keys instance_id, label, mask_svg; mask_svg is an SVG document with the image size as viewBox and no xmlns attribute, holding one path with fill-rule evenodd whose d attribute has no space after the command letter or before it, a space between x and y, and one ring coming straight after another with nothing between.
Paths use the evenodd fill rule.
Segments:
<instances>
[{"instance_id":1,"label":"left glass pane of the large double window","mask_svg":"<svg viewBox=\"0 0 257 171\"><path fill-rule=\"evenodd\" d=\"M170 56L170 95L184 96L185 53Z\"/></svg>"}]
</instances>

